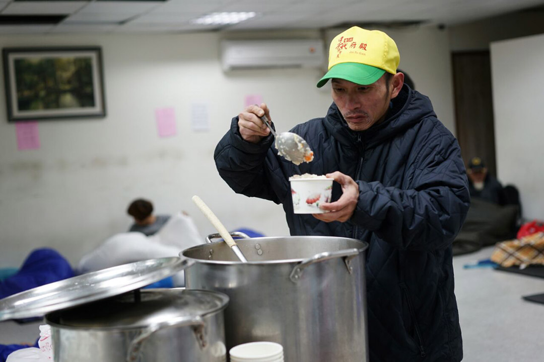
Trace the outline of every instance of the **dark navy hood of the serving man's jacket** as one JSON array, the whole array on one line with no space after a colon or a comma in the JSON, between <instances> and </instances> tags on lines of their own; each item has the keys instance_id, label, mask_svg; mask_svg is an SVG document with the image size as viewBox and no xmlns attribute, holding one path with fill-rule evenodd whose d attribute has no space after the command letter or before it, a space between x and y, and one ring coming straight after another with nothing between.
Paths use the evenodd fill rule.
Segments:
<instances>
[{"instance_id":1,"label":"dark navy hood of the serving man's jacket","mask_svg":"<svg viewBox=\"0 0 544 362\"><path fill-rule=\"evenodd\" d=\"M403 133L405 129L411 128L426 117L436 117L430 99L407 85L404 85L398 96L391 100L391 104L392 107L387 111L384 122L374 124L366 131L353 131L336 104L332 103L325 116L325 126L342 144L353 146L358 139L362 139L366 147L373 147Z\"/></svg>"}]
</instances>

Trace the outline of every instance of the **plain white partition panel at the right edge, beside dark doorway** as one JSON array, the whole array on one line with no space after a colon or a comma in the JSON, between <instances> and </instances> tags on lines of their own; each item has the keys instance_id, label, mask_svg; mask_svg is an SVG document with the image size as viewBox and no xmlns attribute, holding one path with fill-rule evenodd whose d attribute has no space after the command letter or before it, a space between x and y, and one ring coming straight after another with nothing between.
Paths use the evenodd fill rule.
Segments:
<instances>
[{"instance_id":1,"label":"plain white partition panel at the right edge, beside dark doorway","mask_svg":"<svg viewBox=\"0 0 544 362\"><path fill-rule=\"evenodd\" d=\"M491 43L498 179L521 194L523 216L544 218L544 35Z\"/></svg>"}]
</instances>

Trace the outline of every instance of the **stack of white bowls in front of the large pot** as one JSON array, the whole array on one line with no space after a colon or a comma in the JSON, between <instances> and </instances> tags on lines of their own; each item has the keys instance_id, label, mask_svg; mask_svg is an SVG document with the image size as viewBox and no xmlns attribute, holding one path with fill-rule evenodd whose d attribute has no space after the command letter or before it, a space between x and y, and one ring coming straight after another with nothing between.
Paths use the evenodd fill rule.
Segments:
<instances>
[{"instance_id":1,"label":"stack of white bowls in front of the large pot","mask_svg":"<svg viewBox=\"0 0 544 362\"><path fill-rule=\"evenodd\" d=\"M283 362L283 347L274 342L250 342L232 347L231 362Z\"/></svg>"}]
</instances>

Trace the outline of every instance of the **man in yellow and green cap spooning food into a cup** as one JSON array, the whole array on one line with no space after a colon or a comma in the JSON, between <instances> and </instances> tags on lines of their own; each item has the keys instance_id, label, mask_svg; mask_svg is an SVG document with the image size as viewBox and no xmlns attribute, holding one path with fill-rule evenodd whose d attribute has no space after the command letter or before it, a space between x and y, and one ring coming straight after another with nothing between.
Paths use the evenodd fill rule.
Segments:
<instances>
[{"instance_id":1,"label":"man in yellow and green cap spooning food into a cup","mask_svg":"<svg viewBox=\"0 0 544 362\"><path fill-rule=\"evenodd\" d=\"M457 362L452 242L469 207L467 177L455 137L429 98L403 85L399 60L382 31L343 31L317 85L331 79L327 115L292 130L312 148L312 162L277 155L258 117L270 118L264 103L232 119L214 158L234 191L282 204L292 235L369 243L370 361ZM335 179L332 201L320 205L328 213L293 213L288 177L304 173Z\"/></svg>"}]
</instances>

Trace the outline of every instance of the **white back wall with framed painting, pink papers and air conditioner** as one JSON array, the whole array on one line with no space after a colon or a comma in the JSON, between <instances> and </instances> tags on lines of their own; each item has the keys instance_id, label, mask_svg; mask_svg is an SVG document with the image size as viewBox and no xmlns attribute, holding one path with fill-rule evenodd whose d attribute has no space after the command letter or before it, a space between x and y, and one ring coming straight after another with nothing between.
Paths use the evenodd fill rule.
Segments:
<instances>
[{"instance_id":1,"label":"white back wall with framed painting, pink papers and air conditioner","mask_svg":"<svg viewBox=\"0 0 544 362\"><path fill-rule=\"evenodd\" d=\"M432 28L390 33L401 67L453 130L447 34ZM158 213L188 211L202 234L214 230L190 201L194 194L229 229L288 234L281 206L236 195L226 186L213 151L231 117L243 109L246 94L262 94L280 130L325 115L330 94L315 86L320 69L222 73L217 50L222 36L232 35L0 37L2 47L101 46L108 112L104 119L39 122L41 148L17 151L15 125L7 122L0 90L0 267L19 266L39 246L54 247L76 263L126 230L131 223L126 207L140 196L151 199ZM190 126L190 105L201 101L209 105L208 132ZM157 136L156 107L174 107L176 136Z\"/></svg>"}]
</instances>

